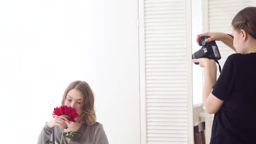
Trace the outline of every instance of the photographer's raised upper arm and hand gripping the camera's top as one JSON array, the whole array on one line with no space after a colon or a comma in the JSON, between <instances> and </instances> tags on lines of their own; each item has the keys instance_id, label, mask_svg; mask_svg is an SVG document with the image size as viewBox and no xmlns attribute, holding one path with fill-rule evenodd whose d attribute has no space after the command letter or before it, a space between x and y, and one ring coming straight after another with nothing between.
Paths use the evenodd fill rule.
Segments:
<instances>
[{"instance_id":1,"label":"photographer's raised upper arm and hand gripping the camera's top","mask_svg":"<svg viewBox=\"0 0 256 144\"><path fill-rule=\"evenodd\" d=\"M230 47L230 49L236 52L236 49L233 46L233 38L231 35L226 33L202 33L196 36L197 44L199 44L200 37L205 37L205 36L210 37L205 40L206 42L210 42L213 40L220 40L222 41L222 43L224 43L226 46Z\"/></svg>"}]
</instances>

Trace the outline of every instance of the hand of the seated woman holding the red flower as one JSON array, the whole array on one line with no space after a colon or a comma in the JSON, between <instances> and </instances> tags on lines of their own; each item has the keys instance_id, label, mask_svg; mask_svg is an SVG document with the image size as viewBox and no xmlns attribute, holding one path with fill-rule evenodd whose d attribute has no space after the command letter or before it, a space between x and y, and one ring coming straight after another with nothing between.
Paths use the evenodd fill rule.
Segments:
<instances>
[{"instance_id":1,"label":"hand of the seated woman holding the red flower","mask_svg":"<svg viewBox=\"0 0 256 144\"><path fill-rule=\"evenodd\" d=\"M62 129L67 129L68 125L67 123L71 123L68 121L66 117L63 116L56 116L51 121L47 122L48 127L53 128L56 125L61 127Z\"/></svg>"}]
</instances>

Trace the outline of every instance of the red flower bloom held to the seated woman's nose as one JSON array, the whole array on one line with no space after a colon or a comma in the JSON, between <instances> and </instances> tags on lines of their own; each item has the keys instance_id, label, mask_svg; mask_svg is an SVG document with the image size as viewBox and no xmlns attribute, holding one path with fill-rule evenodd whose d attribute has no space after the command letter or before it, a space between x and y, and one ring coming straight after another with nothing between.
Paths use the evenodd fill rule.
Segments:
<instances>
[{"instance_id":1,"label":"red flower bloom held to the seated woman's nose","mask_svg":"<svg viewBox=\"0 0 256 144\"><path fill-rule=\"evenodd\" d=\"M75 109L73 109L72 107L68 107L66 105L63 105L59 108L58 107L54 108L53 115L54 115L53 117L64 116L68 119L68 121L71 121L71 122L75 122L74 118L79 116Z\"/></svg>"}]
</instances>

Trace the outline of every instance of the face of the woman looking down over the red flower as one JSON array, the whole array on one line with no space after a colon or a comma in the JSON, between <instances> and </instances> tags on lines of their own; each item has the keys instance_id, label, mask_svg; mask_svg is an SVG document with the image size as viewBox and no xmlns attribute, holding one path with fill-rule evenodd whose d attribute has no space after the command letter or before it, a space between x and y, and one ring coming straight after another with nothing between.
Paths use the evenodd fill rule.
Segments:
<instances>
[{"instance_id":1,"label":"face of the woman looking down over the red flower","mask_svg":"<svg viewBox=\"0 0 256 144\"><path fill-rule=\"evenodd\" d=\"M82 114L82 109L81 109L82 101L83 101L82 93L80 93L76 89L71 89L67 93L64 105L73 107L77 111L78 115L81 115Z\"/></svg>"}]
</instances>

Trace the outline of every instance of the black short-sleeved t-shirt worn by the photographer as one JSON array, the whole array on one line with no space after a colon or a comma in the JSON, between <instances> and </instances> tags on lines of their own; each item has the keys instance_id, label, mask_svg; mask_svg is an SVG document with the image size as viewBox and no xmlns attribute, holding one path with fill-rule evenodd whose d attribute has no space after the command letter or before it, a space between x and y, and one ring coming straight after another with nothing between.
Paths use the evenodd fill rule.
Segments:
<instances>
[{"instance_id":1,"label":"black short-sleeved t-shirt worn by the photographer","mask_svg":"<svg viewBox=\"0 0 256 144\"><path fill-rule=\"evenodd\" d=\"M211 144L256 143L256 53L229 56L212 94L224 103L214 115Z\"/></svg>"}]
</instances>

